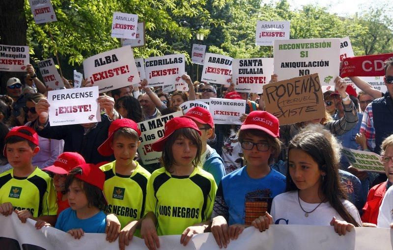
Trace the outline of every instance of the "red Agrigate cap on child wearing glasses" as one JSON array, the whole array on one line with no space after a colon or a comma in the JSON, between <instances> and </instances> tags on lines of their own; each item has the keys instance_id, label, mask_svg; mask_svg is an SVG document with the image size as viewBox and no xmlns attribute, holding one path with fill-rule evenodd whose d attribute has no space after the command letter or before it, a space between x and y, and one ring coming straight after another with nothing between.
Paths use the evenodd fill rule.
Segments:
<instances>
[{"instance_id":1,"label":"red Agrigate cap on child wearing glasses","mask_svg":"<svg viewBox=\"0 0 393 250\"><path fill-rule=\"evenodd\" d=\"M279 119L266 111L252 111L240 127L244 129L259 129L273 137L280 136Z\"/></svg>"}]
</instances>

